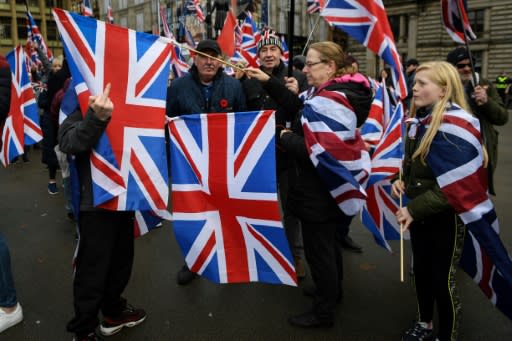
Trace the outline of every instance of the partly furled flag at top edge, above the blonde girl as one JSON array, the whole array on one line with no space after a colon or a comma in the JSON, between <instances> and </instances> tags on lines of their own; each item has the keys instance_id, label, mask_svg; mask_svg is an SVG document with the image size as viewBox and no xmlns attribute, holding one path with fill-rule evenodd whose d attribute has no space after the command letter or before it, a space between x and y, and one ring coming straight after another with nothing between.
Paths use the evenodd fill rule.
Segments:
<instances>
[{"instance_id":1,"label":"partly furled flag at top edge, above the blonde girl","mask_svg":"<svg viewBox=\"0 0 512 341\"><path fill-rule=\"evenodd\" d=\"M466 9L467 3L465 0L441 0L441 17L444 28L450 37L460 44L465 43L464 35L469 41L476 39Z\"/></svg>"}]
</instances>

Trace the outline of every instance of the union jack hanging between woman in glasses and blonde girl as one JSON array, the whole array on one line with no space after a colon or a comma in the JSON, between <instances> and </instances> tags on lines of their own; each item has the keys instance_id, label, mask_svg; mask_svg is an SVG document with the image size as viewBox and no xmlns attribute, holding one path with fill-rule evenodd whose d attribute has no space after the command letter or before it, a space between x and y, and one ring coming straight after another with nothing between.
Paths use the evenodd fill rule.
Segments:
<instances>
[{"instance_id":1,"label":"union jack hanging between woman in glasses and blonde girl","mask_svg":"<svg viewBox=\"0 0 512 341\"><path fill-rule=\"evenodd\" d=\"M400 225L395 216L400 203L391 196L390 179L400 171L404 156L402 103L397 105L390 116L386 131L372 155L372 171L366 188L368 197L361 210L363 224L373 234L377 244L389 251L391 247L387 240L397 240L400 237ZM408 233L404 237L409 238Z\"/></svg>"}]
</instances>

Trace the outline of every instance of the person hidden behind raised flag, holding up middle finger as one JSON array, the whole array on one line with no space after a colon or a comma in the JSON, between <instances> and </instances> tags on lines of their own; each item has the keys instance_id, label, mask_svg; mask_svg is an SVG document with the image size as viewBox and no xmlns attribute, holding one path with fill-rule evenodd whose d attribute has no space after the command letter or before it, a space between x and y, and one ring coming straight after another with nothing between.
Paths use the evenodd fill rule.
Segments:
<instances>
[{"instance_id":1,"label":"person hidden behind raised flag, holding up middle finger","mask_svg":"<svg viewBox=\"0 0 512 341\"><path fill-rule=\"evenodd\" d=\"M93 204L90 154L111 121L110 87L109 83L102 94L89 98L85 115L77 108L59 128L60 150L75 156L81 184L73 280L75 316L67 324L77 341L99 340L98 324L101 335L110 336L146 319L143 309L132 307L121 296L133 267L134 211L110 211Z\"/></svg>"}]
</instances>

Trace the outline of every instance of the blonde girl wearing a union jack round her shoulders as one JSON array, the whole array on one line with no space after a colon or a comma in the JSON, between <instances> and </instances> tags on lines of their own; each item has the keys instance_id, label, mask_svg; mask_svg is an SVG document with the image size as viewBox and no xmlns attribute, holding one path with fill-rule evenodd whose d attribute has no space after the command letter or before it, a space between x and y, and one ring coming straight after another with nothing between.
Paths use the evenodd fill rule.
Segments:
<instances>
[{"instance_id":1,"label":"blonde girl wearing a union jack round her shoulders","mask_svg":"<svg viewBox=\"0 0 512 341\"><path fill-rule=\"evenodd\" d=\"M448 173L449 162L445 159L451 158L460 160L461 164L471 160L471 164L468 161L464 168L477 168L478 174L483 176L474 180L485 183L487 155L478 120L469 110L459 75L452 65L428 62L417 68L405 142L403 179L397 176L392 184L394 197L406 194L409 199L407 206L397 211L396 217L403 229L409 229L411 234L419 309L418 321L403 334L402 340L434 338L434 304L439 315L438 339L457 339L461 305L455 291L455 271L462 253L465 227L449 201L446 189L438 182L440 172ZM456 133L448 134L450 131L446 126L449 124L456 127ZM464 139L470 135L468 131L473 134L470 136L473 144ZM474 154L483 156L478 159ZM460 193L458 200L461 205L464 200L471 201L470 197L475 197L478 187L478 184L466 186L468 193ZM453 188L451 191L455 192Z\"/></svg>"}]
</instances>

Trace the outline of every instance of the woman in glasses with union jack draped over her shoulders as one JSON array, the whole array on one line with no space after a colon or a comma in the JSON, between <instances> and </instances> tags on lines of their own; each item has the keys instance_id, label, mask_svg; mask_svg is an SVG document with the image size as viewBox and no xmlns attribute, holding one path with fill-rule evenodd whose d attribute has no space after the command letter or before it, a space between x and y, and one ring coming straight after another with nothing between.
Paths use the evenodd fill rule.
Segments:
<instances>
[{"instance_id":1,"label":"woman in glasses with union jack draped over her shoulders","mask_svg":"<svg viewBox=\"0 0 512 341\"><path fill-rule=\"evenodd\" d=\"M285 85L260 69L248 68L249 77L263 82L293 121L277 138L295 161L296 177L289 191L288 209L302 224L306 260L315 288L312 308L291 316L297 327L332 327L337 304L343 298L342 255L335 234L349 225L364 202L370 157L356 127L361 105L369 107L368 79L354 73L339 45L312 44L304 72L312 91L304 101L285 91Z\"/></svg>"}]
</instances>

